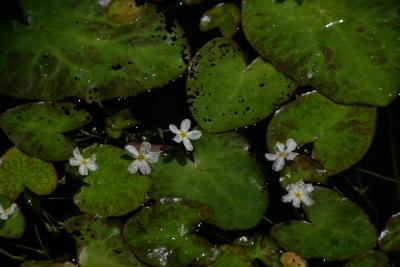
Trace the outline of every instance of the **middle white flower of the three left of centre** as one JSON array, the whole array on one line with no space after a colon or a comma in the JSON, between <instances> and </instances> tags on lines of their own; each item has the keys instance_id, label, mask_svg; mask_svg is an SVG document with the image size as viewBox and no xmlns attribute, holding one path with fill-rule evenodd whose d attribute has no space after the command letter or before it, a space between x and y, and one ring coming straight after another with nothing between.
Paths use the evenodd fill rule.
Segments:
<instances>
[{"instance_id":1,"label":"middle white flower of the three left of centre","mask_svg":"<svg viewBox=\"0 0 400 267\"><path fill-rule=\"evenodd\" d=\"M149 142L143 142L140 145L139 152L132 145L125 146L125 149L135 158L128 167L128 172L132 174L138 170L144 175L150 174L151 168L149 163L156 163L159 160L159 153L151 151L151 144Z\"/></svg>"}]
</instances>

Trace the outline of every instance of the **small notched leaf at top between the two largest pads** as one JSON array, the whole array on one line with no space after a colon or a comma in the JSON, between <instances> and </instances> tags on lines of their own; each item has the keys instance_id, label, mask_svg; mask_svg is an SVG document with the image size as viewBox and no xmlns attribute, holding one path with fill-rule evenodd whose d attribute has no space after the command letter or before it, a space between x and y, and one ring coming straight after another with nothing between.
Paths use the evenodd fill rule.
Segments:
<instances>
[{"instance_id":1,"label":"small notched leaf at top between the two largest pads","mask_svg":"<svg viewBox=\"0 0 400 267\"><path fill-rule=\"evenodd\" d=\"M220 3L203 14L200 19L202 32L219 28L222 35L229 39L238 30L240 23L240 10L231 3Z\"/></svg>"}]
</instances>

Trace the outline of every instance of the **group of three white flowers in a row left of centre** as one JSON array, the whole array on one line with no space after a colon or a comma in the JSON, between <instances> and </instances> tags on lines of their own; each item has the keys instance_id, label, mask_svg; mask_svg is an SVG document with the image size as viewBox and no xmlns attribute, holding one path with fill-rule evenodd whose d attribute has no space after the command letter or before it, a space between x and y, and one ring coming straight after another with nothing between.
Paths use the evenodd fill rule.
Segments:
<instances>
[{"instance_id":1,"label":"group of three white flowers in a row left of centre","mask_svg":"<svg viewBox=\"0 0 400 267\"><path fill-rule=\"evenodd\" d=\"M201 131L193 130L189 131L191 122L189 119L184 119L181 122L180 129L175 125L170 124L169 129L176 136L172 139L177 143L183 142L187 151L193 150L193 145L190 140L197 140L201 137ZM159 152L154 152L151 149L151 144L147 141L142 142L139 147L139 151L133 145L125 146L128 153L134 158L134 161L129 164L128 172L131 174L136 173L138 170L143 175L149 175L151 173L151 167L149 164L157 163L159 161ZM90 158L85 159L78 148L73 151L73 157L69 159L71 166L79 166L80 175L88 175L90 171L97 171L99 169L96 163L96 155L92 155Z\"/></svg>"}]
</instances>

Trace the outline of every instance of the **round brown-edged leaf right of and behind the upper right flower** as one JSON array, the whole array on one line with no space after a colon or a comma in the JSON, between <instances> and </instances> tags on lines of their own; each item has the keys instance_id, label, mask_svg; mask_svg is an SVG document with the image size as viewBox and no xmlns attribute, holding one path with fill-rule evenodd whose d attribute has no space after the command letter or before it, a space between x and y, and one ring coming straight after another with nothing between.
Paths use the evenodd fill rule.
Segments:
<instances>
[{"instance_id":1,"label":"round brown-edged leaf right of and behind the upper right flower","mask_svg":"<svg viewBox=\"0 0 400 267\"><path fill-rule=\"evenodd\" d=\"M293 138L298 144L313 142L311 157L328 175L358 162L375 134L376 108L336 104L317 92L302 95L282 107L268 125L268 149Z\"/></svg>"}]
</instances>

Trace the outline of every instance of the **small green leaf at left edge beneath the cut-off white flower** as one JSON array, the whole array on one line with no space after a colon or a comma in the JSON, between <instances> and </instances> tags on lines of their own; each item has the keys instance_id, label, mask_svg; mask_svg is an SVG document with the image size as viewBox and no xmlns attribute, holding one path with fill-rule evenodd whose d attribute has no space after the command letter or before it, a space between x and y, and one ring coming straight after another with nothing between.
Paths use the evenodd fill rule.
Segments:
<instances>
[{"instance_id":1,"label":"small green leaf at left edge beneath the cut-off white flower","mask_svg":"<svg viewBox=\"0 0 400 267\"><path fill-rule=\"evenodd\" d=\"M0 205L4 210L8 209L13 203L11 199L0 195ZM25 218L19 206L17 206L14 213L7 220L0 219L0 237L20 238L24 234L24 231Z\"/></svg>"}]
</instances>

